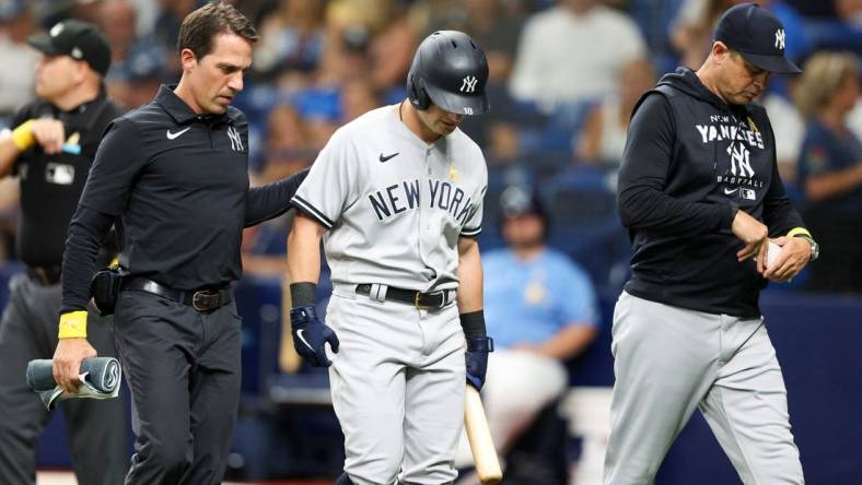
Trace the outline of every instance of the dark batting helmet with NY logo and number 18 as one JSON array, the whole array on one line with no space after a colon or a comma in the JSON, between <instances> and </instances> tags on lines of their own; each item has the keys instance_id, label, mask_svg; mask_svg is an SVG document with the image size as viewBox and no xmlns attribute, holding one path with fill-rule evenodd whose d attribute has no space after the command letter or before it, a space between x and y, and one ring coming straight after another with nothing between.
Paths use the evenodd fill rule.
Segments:
<instances>
[{"instance_id":1,"label":"dark batting helmet with NY logo and number 18","mask_svg":"<svg viewBox=\"0 0 862 485\"><path fill-rule=\"evenodd\" d=\"M488 113L488 59L470 36L438 31L422 40L407 74L407 95L417 109L431 103L458 115Z\"/></svg>"}]
</instances>

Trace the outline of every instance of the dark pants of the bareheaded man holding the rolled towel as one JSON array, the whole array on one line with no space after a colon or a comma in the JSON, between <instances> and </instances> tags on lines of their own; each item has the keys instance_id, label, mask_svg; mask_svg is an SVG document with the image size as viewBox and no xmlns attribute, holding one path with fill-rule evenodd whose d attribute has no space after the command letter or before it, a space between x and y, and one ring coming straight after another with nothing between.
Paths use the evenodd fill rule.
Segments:
<instances>
[{"instance_id":1,"label":"dark pants of the bareheaded man holding the rolled towel","mask_svg":"<svg viewBox=\"0 0 862 485\"><path fill-rule=\"evenodd\" d=\"M137 436L126 484L220 484L240 405L240 317L120 293L117 351Z\"/></svg>"}]
</instances>

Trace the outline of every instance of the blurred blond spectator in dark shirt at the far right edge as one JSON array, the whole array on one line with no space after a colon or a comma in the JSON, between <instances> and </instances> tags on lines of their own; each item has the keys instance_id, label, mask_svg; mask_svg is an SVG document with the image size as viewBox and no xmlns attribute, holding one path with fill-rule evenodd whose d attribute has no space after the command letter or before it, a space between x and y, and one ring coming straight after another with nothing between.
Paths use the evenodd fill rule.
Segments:
<instances>
[{"instance_id":1,"label":"blurred blond spectator in dark shirt at the far right edge","mask_svg":"<svg viewBox=\"0 0 862 485\"><path fill-rule=\"evenodd\" d=\"M862 293L862 143L847 125L859 97L858 71L853 54L817 54L796 90L807 121L800 152L804 217L823 248L811 265L812 291Z\"/></svg>"}]
</instances>

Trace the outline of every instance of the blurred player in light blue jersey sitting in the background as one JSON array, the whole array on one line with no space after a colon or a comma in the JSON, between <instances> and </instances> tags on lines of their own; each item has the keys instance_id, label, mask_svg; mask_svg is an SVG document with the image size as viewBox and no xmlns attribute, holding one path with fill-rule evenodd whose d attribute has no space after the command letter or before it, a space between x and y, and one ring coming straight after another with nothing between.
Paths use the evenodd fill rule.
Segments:
<instances>
[{"instance_id":1,"label":"blurred player in light blue jersey sitting in the background","mask_svg":"<svg viewBox=\"0 0 862 485\"><path fill-rule=\"evenodd\" d=\"M482 400L498 452L504 453L567 389L564 362L596 334L595 291L584 270L545 245L548 220L537 194L503 191L508 247L482 255L485 318L494 336ZM466 437L457 466L473 463Z\"/></svg>"}]
</instances>

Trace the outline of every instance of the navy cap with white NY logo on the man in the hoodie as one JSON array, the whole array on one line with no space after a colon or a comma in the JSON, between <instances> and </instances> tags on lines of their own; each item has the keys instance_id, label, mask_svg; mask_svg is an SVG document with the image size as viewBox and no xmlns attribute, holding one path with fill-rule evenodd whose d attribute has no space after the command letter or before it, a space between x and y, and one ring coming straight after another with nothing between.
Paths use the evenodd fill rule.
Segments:
<instances>
[{"instance_id":1,"label":"navy cap with white NY logo on the man in the hoodie","mask_svg":"<svg viewBox=\"0 0 862 485\"><path fill-rule=\"evenodd\" d=\"M784 57L784 26L772 12L756 3L739 3L727 9L719 20L715 40L738 51L762 70L782 74L802 72Z\"/></svg>"}]
</instances>

